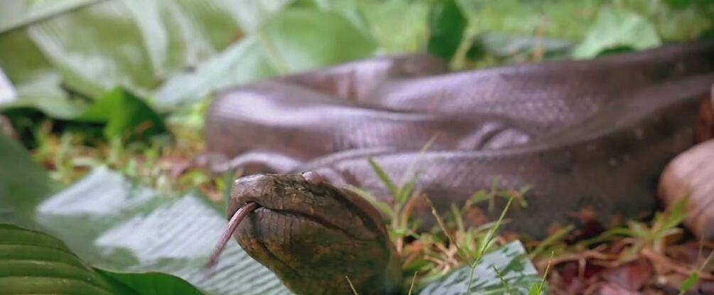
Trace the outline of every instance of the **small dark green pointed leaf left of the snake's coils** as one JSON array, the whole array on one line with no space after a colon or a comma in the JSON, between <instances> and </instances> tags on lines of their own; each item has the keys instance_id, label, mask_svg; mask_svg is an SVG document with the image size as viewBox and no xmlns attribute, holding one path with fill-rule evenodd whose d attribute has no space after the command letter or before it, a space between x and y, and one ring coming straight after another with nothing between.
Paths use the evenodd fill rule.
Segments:
<instances>
[{"instance_id":1,"label":"small dark green pointed leaf left of the snake's coils","mask_svg":"<svg viewBox=\"0 0 714 295\"><path fill-rule=\"evenodd\" d=\"M105 123L106 139L146 138L167 131L164 120L145 100L124 89L114 89L102 96L74 120Z\"/></svg>"}]
</instances>

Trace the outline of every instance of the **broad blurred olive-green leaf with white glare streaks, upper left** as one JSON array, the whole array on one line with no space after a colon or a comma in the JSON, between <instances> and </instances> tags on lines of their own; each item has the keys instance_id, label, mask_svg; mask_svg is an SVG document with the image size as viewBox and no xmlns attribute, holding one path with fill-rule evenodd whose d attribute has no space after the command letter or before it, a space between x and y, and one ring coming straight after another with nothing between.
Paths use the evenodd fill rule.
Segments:
<instances>
[{"instance_id":1,"label":"broad blurred olive-green leaf with white glare streaks, upper left","mask_svg":"<svg viewBox=\"0 0 714 295\"><path fill-rule=\"evenodd\" d=\"M122 86L148 96L163 79L212 56L238 28L218 1L186 9L178 1L105 1L28 28L71 89L91 98ZM196 12L215 16L211 28L193 25ZM208 18L206 18L208 19ZM221 40L201 34L223 32ZM213 41L216 40L216 41ZM215 43L215 44L214 44Z\"/></svg>"}]
</instances>

